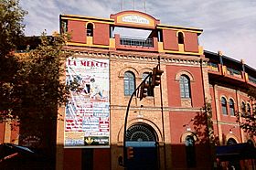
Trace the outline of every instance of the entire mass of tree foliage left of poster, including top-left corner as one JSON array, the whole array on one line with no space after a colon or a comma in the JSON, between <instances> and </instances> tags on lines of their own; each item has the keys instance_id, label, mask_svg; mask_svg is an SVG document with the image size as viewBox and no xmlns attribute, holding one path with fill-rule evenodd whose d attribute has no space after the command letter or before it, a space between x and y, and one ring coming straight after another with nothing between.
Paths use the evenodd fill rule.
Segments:
<instances>
[{"instance_id":1,"label":"entire mass of tree foliage left of poster, including top-left corner","mask_svg":"<svg viewBox=\"0 0 256 170\"><path fill-rule=\"evenodd\" d=\"M70 53L63 48L68 36L43 33L36 49L10 52L22 41L27 12L16 0L0 2L0 121L15 119L23 125L56 121L58 106L69 94L64 73Z\"/></svg>"}]
</instances>

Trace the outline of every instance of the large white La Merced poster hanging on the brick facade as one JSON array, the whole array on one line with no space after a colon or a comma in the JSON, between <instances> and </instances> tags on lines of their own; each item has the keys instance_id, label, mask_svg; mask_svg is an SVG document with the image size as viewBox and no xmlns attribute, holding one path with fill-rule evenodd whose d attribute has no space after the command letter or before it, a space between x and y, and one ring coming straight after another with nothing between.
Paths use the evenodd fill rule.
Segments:
<instances>
[{"instance_id":1,"label":"large white La Merced poster hanging on the brick facade","mask_svg":"<svg viewBox=\"0 0 256 170\"><path fill-rule=\"evenodd\" d=\"M69 58L66 82L80 84L70 90L66 106L66 147L109 145L109 60Z\"/></svg>"}]
</instances>

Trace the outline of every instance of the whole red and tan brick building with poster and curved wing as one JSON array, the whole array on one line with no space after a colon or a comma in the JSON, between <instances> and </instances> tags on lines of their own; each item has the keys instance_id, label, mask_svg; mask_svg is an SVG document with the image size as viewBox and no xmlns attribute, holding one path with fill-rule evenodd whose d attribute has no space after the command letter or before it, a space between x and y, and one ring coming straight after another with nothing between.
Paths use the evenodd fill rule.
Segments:
<instances>
[{"instance_id":1,"label":"whole red and tan brick building with poster and curved wing","mask_svg":"<svg viewBox=\"0 0 256 170\"><path fill-rule=\"evenodd\" d=\"M83 90L71 91L69 104L59 108L65 120L57 124L57 169L123 169L127 104L159 63L161 86L143 100L134 96L131 101L125 145L133 147L133 156L126 162L128 169L210 169L216 163L216 149L208 141L211 132L219 145L255 144L234 115L252 112L254 101L246 91L256 88L256 70L204 51L197 40L202 29L163 25L138 11L59 19L61 34L71 36L66 48L74 52L67 61L67 83L77 80ZM1 126L7 132L7 125ZM12 136L4 134L1 143ZM220 161L223 166L253 165L251 160Z\"/></svg>"}]
</instances>

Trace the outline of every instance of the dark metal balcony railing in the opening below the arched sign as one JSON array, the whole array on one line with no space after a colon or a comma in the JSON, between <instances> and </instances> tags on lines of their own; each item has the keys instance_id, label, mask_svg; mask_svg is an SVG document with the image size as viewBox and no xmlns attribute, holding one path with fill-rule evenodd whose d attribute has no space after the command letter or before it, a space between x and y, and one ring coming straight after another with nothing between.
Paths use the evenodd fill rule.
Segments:
<instances>
[{"instance_id":1,"label":"dark metal balcony railing in the opening below the arched sign","mask_svg":"<svg viewBox=\"0 0 256 170\"><path fill-rule=\"evenodd\" d=\"M120 44L126 46L140 46L153 48L152 38L120 37Z\"/></svg>"}]
</instances>

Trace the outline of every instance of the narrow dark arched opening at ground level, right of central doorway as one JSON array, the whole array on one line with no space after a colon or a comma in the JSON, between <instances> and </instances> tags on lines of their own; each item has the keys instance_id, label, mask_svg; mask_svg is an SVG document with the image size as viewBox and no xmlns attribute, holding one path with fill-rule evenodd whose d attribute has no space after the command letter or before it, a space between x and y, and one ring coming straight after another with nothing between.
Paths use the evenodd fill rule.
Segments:
<instances>
[{"instance_id":1,"label":"narrow dark arched opening at ground level, right of central doorway","mask_svg":"<svg viewBox=\"0 0 256 170\"><path fill-rule=\"evenodd\" d=\"M185 139L186 155L187 155L187 167L196 167L196 151L195 140L191 135L187 135Z\"/></svg>"}]
</instances>

